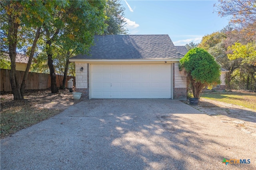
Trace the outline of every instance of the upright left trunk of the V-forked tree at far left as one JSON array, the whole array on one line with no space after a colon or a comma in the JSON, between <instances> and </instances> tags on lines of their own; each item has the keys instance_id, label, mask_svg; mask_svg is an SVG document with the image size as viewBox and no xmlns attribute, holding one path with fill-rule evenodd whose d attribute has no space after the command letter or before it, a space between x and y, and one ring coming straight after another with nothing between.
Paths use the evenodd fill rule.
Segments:
<instances>
[{"instance_id":1,"label":"upright left trunk of the V-forked tree at far left","mask_svg":"<svg viewBox=\"0 0 256 170\"><path fill-rule=\"evenodd\" d=\"M20 84L16 76L16 48L17 48L17 33L19 24L16 22L17 17L8 14L8 42L9 42L9 57L11 60L10 83L14 100L21 100L23 97L20 94Z\"/></svg>"}]
</instances>

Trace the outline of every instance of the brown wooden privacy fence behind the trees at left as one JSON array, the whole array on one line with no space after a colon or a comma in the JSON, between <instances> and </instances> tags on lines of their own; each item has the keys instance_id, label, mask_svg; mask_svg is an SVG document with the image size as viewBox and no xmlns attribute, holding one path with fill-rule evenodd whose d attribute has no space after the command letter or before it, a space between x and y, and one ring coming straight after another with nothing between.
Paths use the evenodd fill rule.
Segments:
<instances>
[{"instance_id":1,"label":"brown wooden privacy fence behind the trees at left","mask_svg":"<svg viewBox=\"0 0 256 170\"><path fill-rule=\"evenodd\" d=\"M24 71L16 71L20 84L22 83L22 78L24 76ZM75 77L67 76L66 87L68 85L68 80L74 78L73 86L75 83ZM60 80L63 80L63 76L56 75L57 86L60 87ZM1 82L0 82L0 91L1 92L10 92L12 91L10 84L10 70L1 69ZM51 77L50 74L38 73L38 72L28 72L28 78L26 81L25 90L34 90L34 89L46 89L51 87Z\"/></svg>"}]
</instances>

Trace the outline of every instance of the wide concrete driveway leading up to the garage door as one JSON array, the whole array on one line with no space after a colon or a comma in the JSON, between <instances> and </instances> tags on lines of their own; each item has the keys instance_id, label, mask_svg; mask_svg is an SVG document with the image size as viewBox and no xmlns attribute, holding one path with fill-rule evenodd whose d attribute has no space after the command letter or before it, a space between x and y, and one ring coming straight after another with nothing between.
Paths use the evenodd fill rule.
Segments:
<instances>
[{"instance_id":1,"label":"wide concrete driveway leading up to the garage door","mask_svg":"<svg viewBox=\"0 0 256 170\"><path fill-rule=\"evenodd\" d=\"M253 170L255 146L178 100L84 100L2 139L1 170Z\"/></svg>"}]
</instances>

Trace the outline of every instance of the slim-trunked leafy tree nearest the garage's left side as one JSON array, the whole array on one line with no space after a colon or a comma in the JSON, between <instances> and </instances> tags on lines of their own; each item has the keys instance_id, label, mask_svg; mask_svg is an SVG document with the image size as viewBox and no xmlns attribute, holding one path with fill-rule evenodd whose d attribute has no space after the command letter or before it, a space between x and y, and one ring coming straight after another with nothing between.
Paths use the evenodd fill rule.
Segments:
<instances>
[{"instance_id":1,"label":"slim-trunked leafy tree nearest the garage's left side","mask_svg":"<svg viewBox=\"0 0 256 170\"><path fill-rule=\"evenodd\" d=\"M105 5L105 1L70 1L63 15L68 26L62 28L55 43L62 50L65 63L61 88L65 88L69 58L87 53L94 43L94 35L102 34L106 28Z\"/></svg>"}]
</instances>

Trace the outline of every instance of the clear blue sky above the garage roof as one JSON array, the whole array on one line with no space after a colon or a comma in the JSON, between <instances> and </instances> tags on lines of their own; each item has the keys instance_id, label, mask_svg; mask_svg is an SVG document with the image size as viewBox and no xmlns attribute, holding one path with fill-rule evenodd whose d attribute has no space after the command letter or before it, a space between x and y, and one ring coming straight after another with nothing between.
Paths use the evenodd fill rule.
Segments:
<instances>
[{"instance_id":1,"label":"clear blue sky above the garage roof","mask_svg":"<svg viewBox=\"0 0 256 170\"><path fill-rule=\"evenodd\" d=\"M228 25L214 12L217 0L122 0L128 33L168 34L174 45L193 41Z\"/></svg>"}]
</instances>

